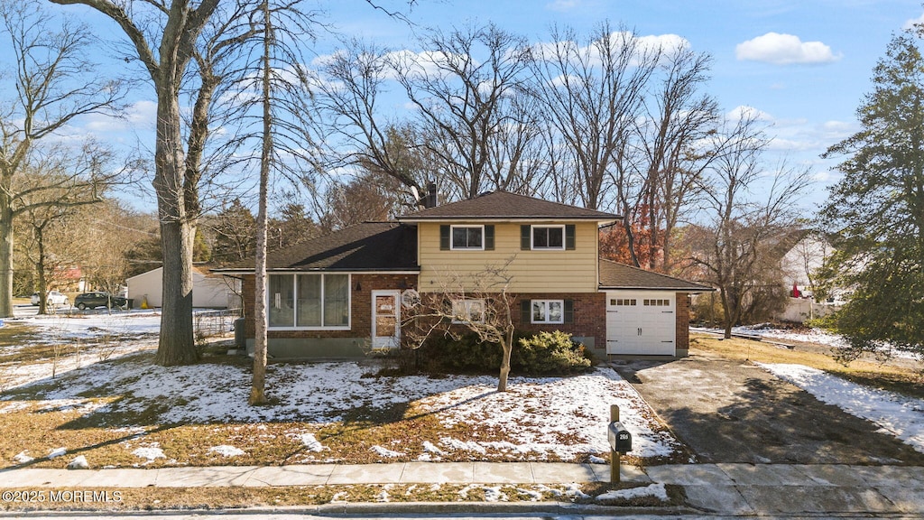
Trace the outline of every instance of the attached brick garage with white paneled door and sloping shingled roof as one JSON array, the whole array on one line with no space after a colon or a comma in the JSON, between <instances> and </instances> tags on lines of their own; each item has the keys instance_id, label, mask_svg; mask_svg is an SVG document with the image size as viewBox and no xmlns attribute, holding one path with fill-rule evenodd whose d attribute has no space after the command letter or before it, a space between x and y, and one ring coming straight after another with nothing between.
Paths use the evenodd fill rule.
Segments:
<instances>
[{"instance_id":1,"label":"attached brick garage with white paneled door and sloping shingled roof","mask_svg":"<svg viewBox=\"0 0 924 520\"><path fill-rule=\"evenodd\" d=\"M607 354L676 357L689 349L689 295L712 289L601 259L600 291Z\"/></svg>"}]
</instances>

